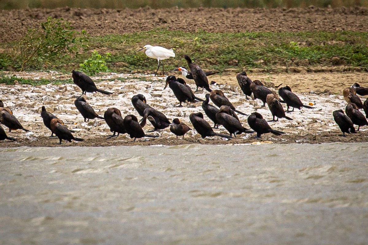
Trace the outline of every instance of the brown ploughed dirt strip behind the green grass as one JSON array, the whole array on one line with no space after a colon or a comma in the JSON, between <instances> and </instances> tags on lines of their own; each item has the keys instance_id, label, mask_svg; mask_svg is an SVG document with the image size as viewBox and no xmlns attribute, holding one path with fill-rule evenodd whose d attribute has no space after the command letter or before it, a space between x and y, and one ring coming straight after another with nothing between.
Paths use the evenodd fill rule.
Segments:
<instances>
[{"instance_id":1,"label":"brown ploughed dirt strip behind the green grass","mask_svg":"<svg viewBox=\"0 0 368 245\"><path fill-rule=\"evenodd\" d=\"M70 21L77 30L91 35L147 31L164 27L169 30L195 32L272 31L293 32L312 30L368 31L367 8L315 7L292 9L241 8L168 8L154 10L71 9L1 10L0 42L13 41L24 35L26 27L46 21L48 16Z\"/></svg>"}]
</instances>

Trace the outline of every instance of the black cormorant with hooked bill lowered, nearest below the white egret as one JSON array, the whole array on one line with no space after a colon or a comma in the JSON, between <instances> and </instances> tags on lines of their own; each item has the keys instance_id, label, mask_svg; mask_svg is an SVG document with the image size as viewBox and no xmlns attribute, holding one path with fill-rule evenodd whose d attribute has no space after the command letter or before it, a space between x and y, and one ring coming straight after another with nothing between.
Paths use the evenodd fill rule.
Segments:
<instances>
[{"instance_id":1,"label":"black cormorant with hooked bill lowered, nearest below the white egret","mask_svg":"<svg viewBox=\"0 0 368 245\"><path fill-rule=\"evenodd\" d=\"M183 105L181 105L181 102L185 101L195 102L195 100L203 101L202 99L194 95L194 93L192 92L190 87L185 83L184 80L181 82L178 82L175 76L168 76L166 78L166 85L164 87L164 89L166 89L167 85L169 84L170 89L173 90L175 97L178 99L180 103L179 107L183 107Z\"/></svg>"}]
</instances>

